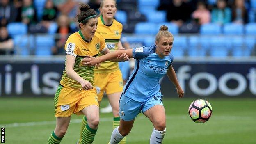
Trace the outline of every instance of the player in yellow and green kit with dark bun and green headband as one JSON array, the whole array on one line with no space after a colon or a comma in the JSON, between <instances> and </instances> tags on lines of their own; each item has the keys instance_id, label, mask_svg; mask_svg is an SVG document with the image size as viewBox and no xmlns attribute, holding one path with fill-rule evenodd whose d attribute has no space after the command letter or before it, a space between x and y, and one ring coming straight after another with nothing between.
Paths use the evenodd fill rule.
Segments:
<instances>
[{"instance_id":1,"label":"player in yellow and green kit with dark bun and green headband","mask_svg":"<svg viewBox=\"0 0 256 144\"><path fill-rule=\"evenodd\" d=\"M99 106L94 87L94 66L83 66L81 60L85 55L97 57L99 52L107 54L110 50L103 37L96 33L96 12L87 4L82 4L80 10L77 16L80 30L71 34L65 45L65 70L54 98L56 128L48 144L61 142L73 113L84 114L88 120L82 131L81 144L91 144L98 128ZM120 57L128 58L126 54Z\"/></svg>"}]
</instances>

